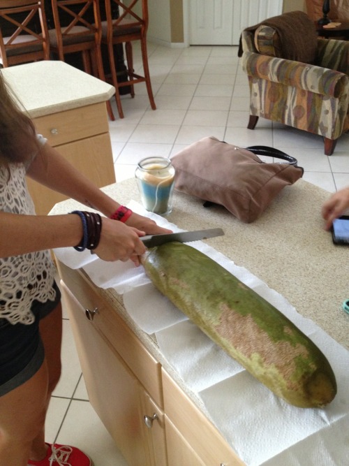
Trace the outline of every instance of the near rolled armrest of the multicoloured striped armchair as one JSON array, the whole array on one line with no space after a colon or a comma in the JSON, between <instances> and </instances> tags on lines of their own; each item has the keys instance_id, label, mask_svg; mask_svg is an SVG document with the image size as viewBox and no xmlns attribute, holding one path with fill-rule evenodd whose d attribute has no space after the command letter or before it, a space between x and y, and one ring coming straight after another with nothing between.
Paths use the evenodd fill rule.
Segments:
<instances>
[{"instance_id":1,"label":"near rolled armrest of the multicoloured striped armchair","mask_svg":"<svg viewBox=\"0 0 349 466\"><path fill-rule=\"evenodd\" d=\"M339 71L254 52L243 53L242 68L252 78L299 87L325 96L338 97L349 86L348 76Z\"/></svg>"}]
</instances>

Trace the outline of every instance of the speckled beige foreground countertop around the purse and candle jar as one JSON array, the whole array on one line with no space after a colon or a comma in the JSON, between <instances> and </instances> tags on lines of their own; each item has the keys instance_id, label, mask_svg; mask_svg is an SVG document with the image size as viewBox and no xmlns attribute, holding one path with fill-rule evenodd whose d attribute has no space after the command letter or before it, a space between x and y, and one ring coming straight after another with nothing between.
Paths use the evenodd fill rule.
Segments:
<instances>
[{"instance_id":1,"label":"speckled beige foreground countertop around the purse and candle jar","mask_svg":"<svg viewBox=\"0 0 349 466\"><path fill-rule=\"evenodd\" d=\"M131 199L139 201L135 179L103 191L125 205ZM260 219L244 224L223 207L205 208L200 199L175 191L174 207L166 218L186 230L223 228L225 235L210 238L207 244L246 267L349 349L349 316L341 308L349 297L349 248L334 246L331 233L323 228L321 206L329 196L298 180L281 191ZM50 213L84 208L69 199L56 204Z\"/></svg>"}]
</instances>

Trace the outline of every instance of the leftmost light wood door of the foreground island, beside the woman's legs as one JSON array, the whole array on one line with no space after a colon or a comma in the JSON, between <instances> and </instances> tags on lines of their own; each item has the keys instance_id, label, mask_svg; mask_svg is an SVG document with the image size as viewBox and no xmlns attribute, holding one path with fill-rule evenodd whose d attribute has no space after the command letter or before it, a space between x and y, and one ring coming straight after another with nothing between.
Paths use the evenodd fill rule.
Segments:
<instances>
[{"instance_id":1,"label":"leftmost light wood door of the foreground island, beside the woman's legs","mask_svg":"<svg viewBox=\"0 0 349 466\"><path fill-rule=\"evenodd\" d=\"M91 405L131 466L153 466L144 462L148 447L141 414L142 386L62 282L61 291Z\"/></svg>"}]
</instances>

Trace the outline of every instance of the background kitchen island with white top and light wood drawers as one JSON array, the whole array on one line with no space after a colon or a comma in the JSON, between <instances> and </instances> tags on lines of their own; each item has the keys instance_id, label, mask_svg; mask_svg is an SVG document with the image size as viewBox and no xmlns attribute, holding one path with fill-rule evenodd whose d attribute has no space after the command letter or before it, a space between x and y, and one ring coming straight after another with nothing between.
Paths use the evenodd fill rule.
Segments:
<instances>
[{"instance_id":1,"label":"background kitchen island with white top and light wood drawers","mask_svg":"<svg viewBox=\"0 0 349 466\"><path fill-rule=\"evenodd\" d=\"M64 61L37 61L1 70L38 133L98 187L115 182L105 102L113 86ZM66 199L28 180L36 213Z\"/></svg>"}]
</instances>

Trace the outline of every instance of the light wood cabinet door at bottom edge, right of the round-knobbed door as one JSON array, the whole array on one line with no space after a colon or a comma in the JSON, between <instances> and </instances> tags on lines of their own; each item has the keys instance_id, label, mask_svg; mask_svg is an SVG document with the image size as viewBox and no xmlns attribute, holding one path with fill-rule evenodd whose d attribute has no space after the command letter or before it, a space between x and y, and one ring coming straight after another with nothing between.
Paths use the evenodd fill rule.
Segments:
<instances>
[{"instance_id":1,"label":"light wood cabinet door at bottom edge, right of the round-knobbed door","mask_svg":"<svg viewBox=\"0 0 349 466\"><path fill-rule=\"evenodd\" d=\"M168 449L168 466L190 465L205 466L183 435L165 416L166 443ZM218 465L217 465L218 466Z\"/></svg>"}]
</instances>

